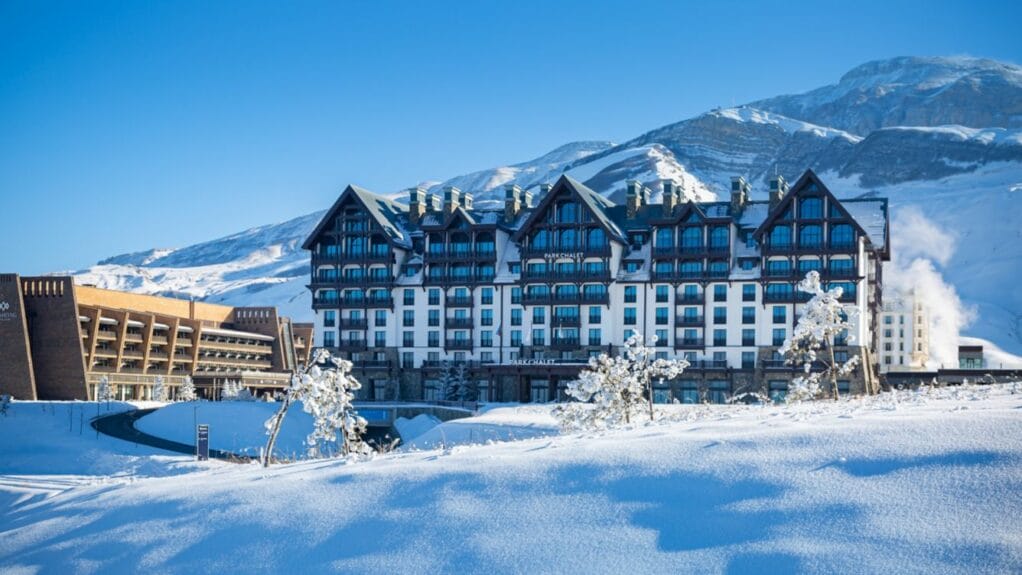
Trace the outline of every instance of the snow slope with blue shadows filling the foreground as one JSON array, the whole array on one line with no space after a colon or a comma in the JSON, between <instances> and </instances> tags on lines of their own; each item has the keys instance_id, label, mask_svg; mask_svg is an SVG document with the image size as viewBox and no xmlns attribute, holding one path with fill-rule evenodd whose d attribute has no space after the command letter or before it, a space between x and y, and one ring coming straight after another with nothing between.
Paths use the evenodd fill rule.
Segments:
<instances>
[{"instance_id":1,"label":"snow slope with blue shadows filling the foreground","mask_svg":"<svg viewBox=\"0 0 1022 575\"><path fill-rule=\"evenodd\" d=\"M37 444L73 439L46 423L61 414L32 408L0 417L0 572L1022 570L1018 386L673 405L599 435L48 490L42 466L9 485L26 450L10 421L45 427ZM549 409L502 405L477 422L552 433Z\"/></svg>"}]
</instances>

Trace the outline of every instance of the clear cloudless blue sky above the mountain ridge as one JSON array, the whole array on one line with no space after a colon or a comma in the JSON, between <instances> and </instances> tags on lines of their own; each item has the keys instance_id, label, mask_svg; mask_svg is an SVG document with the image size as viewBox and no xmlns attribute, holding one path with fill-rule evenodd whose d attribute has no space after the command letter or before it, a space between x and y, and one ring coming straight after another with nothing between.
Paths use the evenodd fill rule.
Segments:
<instances>
[{"instance_id":1,"label":"clear cloudless blue sky above the mountain ridge","mask_svg":"<svg viewBox=\"0 0 1022 575\"><path fill-rule=\"evenodd\" d=\"M0 3L0 271L621 141L871 59L1022 61L1015 2L284 4Z\"/></svg>"}]
</instances>

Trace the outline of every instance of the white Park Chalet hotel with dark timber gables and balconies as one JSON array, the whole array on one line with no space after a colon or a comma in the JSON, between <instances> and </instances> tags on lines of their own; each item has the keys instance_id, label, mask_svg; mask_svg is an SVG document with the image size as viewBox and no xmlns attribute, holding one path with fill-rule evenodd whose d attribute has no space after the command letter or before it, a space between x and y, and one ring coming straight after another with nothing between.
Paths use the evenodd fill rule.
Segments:
<instances>
[{"instance_id":1,"label":"white Park Chalet hotel with dark timber gables and balconies","mask_svg":"<svg viewBox=\"0 0 1022 575\"><path fill-rule=\"evenodd\" d=\"M557 400L633 333L691 363L657 400L778 397L795 375L777 353L806 300L795 285L818 270L853 325L838 357L863 357L841 387L874 388L886 199L838 200L811 172L770 186L751 201L735 178L730 201L695 203L665 182L651 203L632 183L620 205L561 177L535 204L510 186L486 208L456 188L404 205L349 186L304 244L316 345L355 363L366 399L440 399L443 367L462 363L481 400Z\"/></svg>"}]
</instances>

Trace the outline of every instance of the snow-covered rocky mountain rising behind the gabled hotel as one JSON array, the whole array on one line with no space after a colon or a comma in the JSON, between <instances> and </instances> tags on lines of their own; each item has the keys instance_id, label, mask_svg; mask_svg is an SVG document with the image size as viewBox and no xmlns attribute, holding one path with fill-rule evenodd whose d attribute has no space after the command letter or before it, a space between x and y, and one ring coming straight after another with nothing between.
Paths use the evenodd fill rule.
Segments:
<instances>
[{"instance_id":1,"label":"snow-covered rocky mountain rising behind the gabled hotel","mask_svg":"<svg viewBox=\"0 0 1022 575\"><path fill-rule=\"evenodd\" d=\"M806 94L712 110L618 145L569 143L529 161L428 186L457 186L484 203L499 200L507 184L535 189L566 173L619 200L628 180L658 188L669 178L687 197L705 200L726 192L732 176L745 176L761 196L770 176L793 180L811 167L841 196L888 196L895 215L916 208L942 226L957 239L945 277L982 318L970 333L1022 352L1022 290L1005 289L1022 280L1022 228L1005 215L1022 212L1020 79L1019 66L975 58L870 62ZM948 122L967 127L944 126ZM79 281L273 303L308 319L308 257L300 243L321 214L181 249L114 256L79 273ZM991 253L997 265L984 265Z\"/></svg>"}]
</instances>

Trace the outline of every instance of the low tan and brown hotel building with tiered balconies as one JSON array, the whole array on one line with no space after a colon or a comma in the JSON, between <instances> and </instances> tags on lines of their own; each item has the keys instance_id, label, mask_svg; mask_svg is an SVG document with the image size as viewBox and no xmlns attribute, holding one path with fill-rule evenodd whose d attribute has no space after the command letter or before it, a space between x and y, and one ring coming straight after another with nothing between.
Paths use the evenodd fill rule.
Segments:
<instances>
[{"instance_id":1,"label":"low tan and brown hotel building with tiered balconies","mask_svg":"<svg viewBox=\"0 0 1022 575\"><path fill-rule=\"evenodd\" d=\"M120 399L171 398L185 377L217 397L225 381L283 389L309 361L312 324L275 307L231 307L0 274L0 393L89 399L106 377Z\"/></svg>"}]
</instances>

